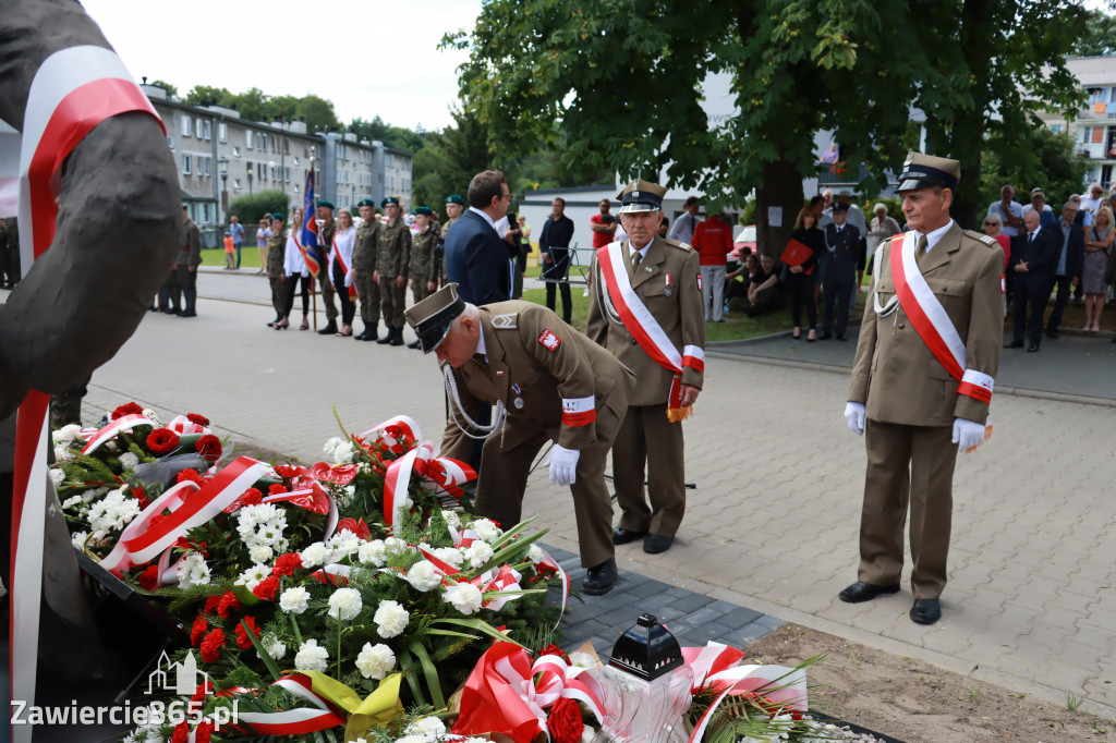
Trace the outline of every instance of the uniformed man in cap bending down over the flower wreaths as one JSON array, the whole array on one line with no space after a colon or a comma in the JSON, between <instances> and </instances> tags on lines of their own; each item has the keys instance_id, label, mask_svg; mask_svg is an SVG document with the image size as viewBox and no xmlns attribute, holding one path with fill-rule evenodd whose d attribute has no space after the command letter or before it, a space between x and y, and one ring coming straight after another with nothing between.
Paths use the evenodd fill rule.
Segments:
<instances>
[{"instance_id":1,"label":"uniformed man in cap bending down over the flower wreaths","mask_svg":"<svg viewBox=\"0 0 1116 743\"><path fill-rule=\"evenodd\" d=\"M548 441L550 482L574 495L583 590L616 583L609 539L613 508L605 460L627 411L635 376L552 310L521 300L466 305L450 283L411 307L407 322L423 353L443 365L450 419L442 455L468 459L485 437L477 510L506 529L519 523L531 461ZM475 422L496 405L491 425Z\"/></svg>"}]
</instances>

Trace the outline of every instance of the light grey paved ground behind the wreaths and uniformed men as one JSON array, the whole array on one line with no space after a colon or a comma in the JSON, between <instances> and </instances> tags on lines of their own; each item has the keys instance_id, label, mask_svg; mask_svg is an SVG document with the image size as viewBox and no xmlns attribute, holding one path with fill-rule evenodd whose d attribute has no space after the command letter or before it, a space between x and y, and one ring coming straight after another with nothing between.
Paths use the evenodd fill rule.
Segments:
<instances>
[{"instance_id":1,"label":"light grey paved ground behind the wreaths and uniformed men","mask_svg":"<svg viewBox=\"0 0 1116 743\"><path fill-rule=\"evenodd\" d=\"M205 276L202 296L218 281ZM350 431L406 413L425 438L441 438L432 358L277 332L253 305L200 301L199 312L148 315L94 375L86 419L132 399L166 414L198 412L221 433L307 463L338 433L330 405ZM638 543L618 548L620 570L1058 704L1084 696L1085 708L1116 718L1116 418L1106 404L1059 392L1110 399L1106 363L1096 379L1081 368L1107 359L1110 347L1064 338L1038 355L1006 351L1001 384L1031 379L1054 392L998 394L994 436L960 459L945 616L932 627L907 618L907 590L865 605L837 599L856 577L865 455L841 416L847 373L835 373L827 355L850 358L853 341L771 339L747 355L711 354L696 415L685 423L686 480L696 490L677 541L660 556ZM768 357L757 351L764 348ZM525 513L550 529L548 543L576 553L570 505L543 470L531 475Z\"/></svg>"}]
</instances>

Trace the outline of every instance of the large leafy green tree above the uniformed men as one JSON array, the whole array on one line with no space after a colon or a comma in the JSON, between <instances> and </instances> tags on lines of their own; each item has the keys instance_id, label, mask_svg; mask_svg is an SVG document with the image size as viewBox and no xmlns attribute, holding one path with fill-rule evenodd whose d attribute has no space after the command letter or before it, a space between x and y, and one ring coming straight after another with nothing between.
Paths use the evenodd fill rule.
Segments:
<instances>
[{"instance_id":1,"label":"large leafy green tree above the uniformed men","mask_svg":"<svg viewBox=\"0 0 1116 743\"><path fill-rule=\"evenodd\" d=\"M754 189L760 249L778 254L817 173L816 133L835 131L875 194L920 144L912 108L927 152L962 162L954 215L972 226L985 137L1009 143L1036 102L1079 105L1064 55L1081 17L1071 0L492 0L443 46L470 52L462 95L493 149L564 138L571 172L665 171L712 209ZM735 112L711 122L704 81L718 74Z\"/></svg>"}]
</instances>

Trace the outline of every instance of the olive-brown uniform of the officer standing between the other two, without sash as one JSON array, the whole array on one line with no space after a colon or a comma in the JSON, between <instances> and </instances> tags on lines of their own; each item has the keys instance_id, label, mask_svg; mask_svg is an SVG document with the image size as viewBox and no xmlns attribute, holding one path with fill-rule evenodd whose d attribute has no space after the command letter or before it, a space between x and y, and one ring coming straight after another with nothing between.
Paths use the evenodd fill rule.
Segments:
<instances>
[{"instance_id":1,"label":"olive-brown uniform of the officer standing between the other two, without sash","mask_svg":"<svg viewBox=\"0 0 1116 743\"><path fill-rule=\"evenodd\" d=\"M656 237L636 269L626 240L620 250L633 291L674 347L680 353L686 346L704 349L705 315L698 287L698 252L684 242ZM613 446L616 502L623 511L619 527L636 533L673 537L686 509L682 424L671 423L666 417L674 373L660 366L636 342L606 301L607 291L594 257L587 334L635 372L639 380ZM682 384L701 389L702 380L702 372L683 367ZM644 496L645 467L650 506Z\"/></svg>"}]
</instances>

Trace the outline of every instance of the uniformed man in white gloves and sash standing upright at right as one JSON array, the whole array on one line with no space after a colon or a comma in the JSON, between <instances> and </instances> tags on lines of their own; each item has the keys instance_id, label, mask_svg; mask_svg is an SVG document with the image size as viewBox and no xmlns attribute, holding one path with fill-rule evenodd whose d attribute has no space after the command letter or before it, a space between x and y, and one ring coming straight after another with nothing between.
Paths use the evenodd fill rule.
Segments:
<instances>
[{"instance_id":1,"label":"uniformed man in white gloves and sash standing upright at right","mask_svg":"<svg viewBox=\"0 0 1116 743\"><path fill-rule=\"evenodd\" d=\"M955 160L910 153L896 190L911 231L876 250L845 418L868 466L850 604L899 590L911 509L911 619L942 616L959 451L984 441L1000 364L1003 250L950 219Z\"/></svg>"}]
</instances>

